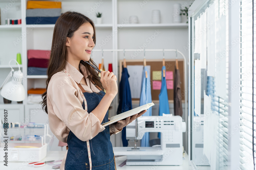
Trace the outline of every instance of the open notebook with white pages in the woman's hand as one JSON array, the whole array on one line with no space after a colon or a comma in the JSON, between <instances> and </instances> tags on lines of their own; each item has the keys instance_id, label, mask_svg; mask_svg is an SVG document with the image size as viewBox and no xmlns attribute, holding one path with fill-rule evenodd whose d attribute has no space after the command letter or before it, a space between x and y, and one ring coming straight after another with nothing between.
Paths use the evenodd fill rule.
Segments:
<instances>
[{"instance_id":1,"label":"open notebook with white pages in the woman's hand","mask_svg":"<svg viewBox=\"0 0 256 170\"><path fill-rule=\"evenodd\" d=\"M120 121L122 119L125 119L126 117L129 117L129 116L133 116L134 114L137 114L137 113L140 113L142 112L143 110L147 110L148 108L150 108L151 106L154 106L155 104L154 103L147 103L147 104L144 104L140 107L137 107L137 108L134 108L132 110L129 110L127 112L123 112L121 114L118 114L118 115L115 115L115 116L112 116L110 118L110 121L109 122L106 122L104 124L102 124L102 126L108 126L112 123L115 123L117 121Z\"/></svg>"}]
</instances>

